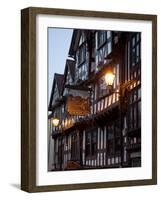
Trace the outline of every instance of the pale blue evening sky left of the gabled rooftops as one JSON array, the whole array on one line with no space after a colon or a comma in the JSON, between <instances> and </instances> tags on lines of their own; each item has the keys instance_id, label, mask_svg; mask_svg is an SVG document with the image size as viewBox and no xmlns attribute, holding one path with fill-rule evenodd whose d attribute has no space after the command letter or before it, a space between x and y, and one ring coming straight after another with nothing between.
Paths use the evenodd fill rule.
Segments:
<instances>
[{"instance_id":1,"label":"pale blue evening sky left of the gabled rooftops","mask_svg":"<svg viewBox=\"0 0 161 200\"><path fill-rule=\"evenodd\" d=\"M64 73L73 29L48 28L48 100L54 73Z\"/></svg>"}]
</instances>

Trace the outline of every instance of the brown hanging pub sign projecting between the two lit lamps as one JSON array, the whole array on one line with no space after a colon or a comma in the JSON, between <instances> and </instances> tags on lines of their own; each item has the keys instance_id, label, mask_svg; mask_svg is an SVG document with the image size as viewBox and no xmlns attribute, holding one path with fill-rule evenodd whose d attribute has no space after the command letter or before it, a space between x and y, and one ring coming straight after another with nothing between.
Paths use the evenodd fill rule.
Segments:
<instances>
[{"instance_id":1,"label":"brown hanging pub sign projecting between the two lit lamps","mask_svg":"<svg viewBox=\"0 0 161 200\"><path fill-rule=\"evenodd\" d=\"M90 113L89 99L80 96L68 96L67 112L70 115L88 115Z\"/></svg>"}]
</instances>

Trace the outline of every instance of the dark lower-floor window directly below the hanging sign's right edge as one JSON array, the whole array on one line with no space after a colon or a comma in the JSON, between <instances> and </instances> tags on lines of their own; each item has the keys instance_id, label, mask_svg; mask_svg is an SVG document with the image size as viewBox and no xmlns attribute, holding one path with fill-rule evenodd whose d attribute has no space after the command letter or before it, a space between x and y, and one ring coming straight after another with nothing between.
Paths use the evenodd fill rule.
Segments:
<instances>
[{"instance_id":1,"label":"dark lower-floor window directly below the hanging sign's right edge","mask_svg":"<svg viewBox=\"0 0 161 200\"><path fill-rule=\"evenodd\" d=\"M91 130L86 133L86 157L95 156L97 151L97 131Z\"/></svg>"}]
</instances>

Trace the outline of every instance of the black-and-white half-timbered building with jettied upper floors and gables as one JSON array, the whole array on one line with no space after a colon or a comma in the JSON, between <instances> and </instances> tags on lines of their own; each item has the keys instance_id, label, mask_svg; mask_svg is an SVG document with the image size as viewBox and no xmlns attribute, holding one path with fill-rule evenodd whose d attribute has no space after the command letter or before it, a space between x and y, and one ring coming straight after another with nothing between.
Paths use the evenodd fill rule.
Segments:
<instances>
[{"instance_id":1,"label":"black-and-white half-timbered building with jettied upper floors and gables","mask_svg":"<svg viewBox=\"0 0 161 200\"><path fill-rule=\"evenodd\" d=\"M112 87L108 71L115 75ZM70 113L68 99L79 96L88 111ZM141 166L141 34L74 30L49 111L50 170Z\"/></svg>"}]
</instances>

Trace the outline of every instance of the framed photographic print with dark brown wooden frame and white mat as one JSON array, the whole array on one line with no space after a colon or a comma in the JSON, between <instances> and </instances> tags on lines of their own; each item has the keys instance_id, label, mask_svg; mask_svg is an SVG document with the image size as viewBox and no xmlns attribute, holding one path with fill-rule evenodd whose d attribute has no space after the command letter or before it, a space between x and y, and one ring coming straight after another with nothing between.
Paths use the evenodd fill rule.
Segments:
<instances>
[{"instance_id":1,"label":"framed photographic print with dark brown wooden frame and white mat","mask_svg":"<svg viewBox=\"0 0 161 200\"><path fill-rule=\"evenodd\" d=\"M21 12L21 188L157 184L157 16Z\"/></svg>"}]
</instances>

